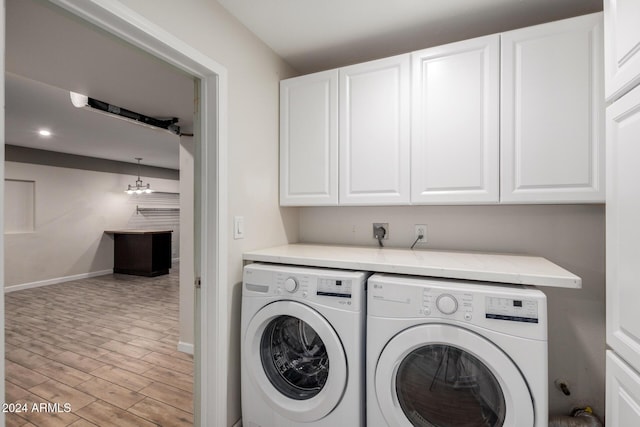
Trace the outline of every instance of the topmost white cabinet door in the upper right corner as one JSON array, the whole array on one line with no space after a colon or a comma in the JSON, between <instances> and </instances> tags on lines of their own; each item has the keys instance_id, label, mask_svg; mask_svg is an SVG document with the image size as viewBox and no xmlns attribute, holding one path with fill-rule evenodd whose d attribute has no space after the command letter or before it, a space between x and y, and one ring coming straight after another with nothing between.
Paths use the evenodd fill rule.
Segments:
<instances>
[{"instance_id":1,"label":"topmost white cabinet door in the upper right corner","mask_svg":"<svg viewBox=\"0 0 640 427\"><path fill-rule=\"evenodd\" d=\"M640 2L605 0L605 89L607 100L640 84Z\"/></svg>"}]
</instances>

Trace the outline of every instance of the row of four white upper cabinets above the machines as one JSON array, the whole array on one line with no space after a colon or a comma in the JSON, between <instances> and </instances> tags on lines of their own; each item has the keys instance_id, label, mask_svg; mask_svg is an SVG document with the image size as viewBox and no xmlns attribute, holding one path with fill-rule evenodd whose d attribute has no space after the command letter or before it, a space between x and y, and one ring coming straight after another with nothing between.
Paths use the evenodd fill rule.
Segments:
<instances>
[{"instance_id":1,"label":"row of four white upper cabinets above the machines","mask_svg":"<svg viewBox=\"0 0 640 427\"><path fill-rule=\"evenodd\" d=\"M280 204L603 203L603 64L597 13L283 80Z\"/></svg>"}]
</instances>

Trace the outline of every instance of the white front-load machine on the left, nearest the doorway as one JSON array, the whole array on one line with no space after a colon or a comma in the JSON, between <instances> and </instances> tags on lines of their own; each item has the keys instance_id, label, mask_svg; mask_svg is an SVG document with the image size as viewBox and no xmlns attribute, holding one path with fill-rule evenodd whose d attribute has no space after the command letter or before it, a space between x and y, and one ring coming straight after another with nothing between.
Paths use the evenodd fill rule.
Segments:
<instances>
[{"instance_id":1,"label":"white front-load machine on the left, nearest the doorway","mask_svg":"<svg viewBox=\"0 0 640 427\"><path fill-rule=\"evenodd\" d=\"M250 264L242 287L242 424L365 424L367 273Z\"/></svg>"}]
</instances>

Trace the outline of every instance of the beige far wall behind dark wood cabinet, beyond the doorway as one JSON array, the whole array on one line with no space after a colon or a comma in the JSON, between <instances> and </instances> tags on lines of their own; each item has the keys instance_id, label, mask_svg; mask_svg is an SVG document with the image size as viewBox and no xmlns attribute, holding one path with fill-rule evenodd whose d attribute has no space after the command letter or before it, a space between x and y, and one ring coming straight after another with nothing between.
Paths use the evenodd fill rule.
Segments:
<instances>
[{"instance_id":1,"label":"beige far wall behind dark wood cabinet, beyond the doorway","mask_svg":"<svg viewBox=\"0 0 640 427\"><path fill-rule=\"evenodd\" d=\"M135 211L136 198L143 196L124 192L134 175L5 162L5 178L35 181L35 230L4 236L7 288L111 271L113 237L104 231L132 222L146 228ZM178 191L176 180L145 182L156 190Z\"/></svg>"}]
</instances>

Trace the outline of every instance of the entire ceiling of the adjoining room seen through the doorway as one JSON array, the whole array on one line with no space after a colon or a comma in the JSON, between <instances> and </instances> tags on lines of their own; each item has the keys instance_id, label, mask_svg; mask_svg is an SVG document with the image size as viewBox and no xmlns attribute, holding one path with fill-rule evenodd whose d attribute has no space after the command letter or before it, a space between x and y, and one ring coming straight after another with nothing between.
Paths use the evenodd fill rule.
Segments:
<instances>
[{"instance_id":1,"label":"entire ceiling of the adjoining room seen through the doorway","mask_svg":"<svg viewBox=\"0 0 640 427\"><path fill-rule=\"evenodd\" d=\"M6 2L5 142L179 169L179 137L71 104L69 91L193 129L193 78L37 0ZM38 130L52 135L43 138Z\"/></svg>"}]
</instances>

